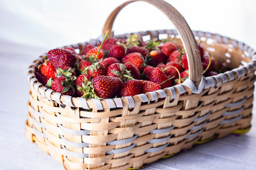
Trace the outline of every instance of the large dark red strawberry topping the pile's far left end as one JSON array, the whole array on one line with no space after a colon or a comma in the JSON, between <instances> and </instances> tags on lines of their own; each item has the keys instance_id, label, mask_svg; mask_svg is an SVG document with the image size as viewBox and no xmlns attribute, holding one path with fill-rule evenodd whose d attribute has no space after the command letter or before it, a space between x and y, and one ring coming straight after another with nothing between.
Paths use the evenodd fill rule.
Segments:
<instances>
[{"instance_id":1,"label":"large dark red strawberry topping the pile's far left end","mask_svg":"<svg viewBox=\"0 0 256 170\"><path fill-rule=\"evenodd\" d=\"M55 69L63 66L73 67L75 64L75 53L65 49L53 49L47 53L47 57Z\"/></svg>"}]
</instances>

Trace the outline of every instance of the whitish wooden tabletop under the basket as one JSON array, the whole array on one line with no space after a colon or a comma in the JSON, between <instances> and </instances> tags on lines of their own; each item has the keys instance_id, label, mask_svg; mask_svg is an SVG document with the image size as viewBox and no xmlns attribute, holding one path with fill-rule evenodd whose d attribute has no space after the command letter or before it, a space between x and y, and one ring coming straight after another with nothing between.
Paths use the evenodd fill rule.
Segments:
<instances>
[{"instance_id":1,"label":"whitish wooden tabletop under the basket","mask_svg":"<svg viewBox=\"0 0 256 170\"><path fill-rule=\"evenodd\" d=\"M26 69L46 49L7 42L0 38L0 169L63 169L36 144L24 137L28 114ZM146 165L144 169L256 170L256 120L245 135L231 135Z\"/></svg>"}]
</instances>

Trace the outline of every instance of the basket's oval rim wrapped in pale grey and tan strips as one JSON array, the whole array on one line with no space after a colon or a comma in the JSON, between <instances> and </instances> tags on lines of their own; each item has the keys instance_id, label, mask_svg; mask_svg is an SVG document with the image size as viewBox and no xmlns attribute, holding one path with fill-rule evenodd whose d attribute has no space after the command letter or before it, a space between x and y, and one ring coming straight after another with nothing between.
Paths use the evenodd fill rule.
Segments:
<instances>
[{"instance_id":1,"label":"basket's oval rim wrapped in pale grey and tan strips","mask_svg":"<svg viewBox=\"0 0 256 170\"><path fill-rule=\"evenodd\" d=\"M122 35L114 35L114 38L127 38L127 35L133 33L126 33ZM159 38L159 34L166 34L166 35L174 35L177 36L178 33L176 30L147 30L147 31L140 31L137 32L139 35L150 35L151 39ZM190 79L186 79L182 84L171 86L166 89L161 89L158 91L152 91L146 94L139 94L136 96L127 96L122 98L104 98L104 99L85 99L80 97L73 97L60 94L58 92L53 91L52 89L43 86L40 81L36 78L36 67L39 64L43 63L46 53L40 55L38 59L34 60L30 66L28 67L28 82L31 84L31 88L35 89L38 94L41 94L44 98L47 98L49 101L54 101L60 105L68 105L70 107L79 107L84 108L86 110L97 109L97 110L104 110L105 108L134 108L135 103L145 103L149 101L156 101L159 98L166 98L167 96L169 99L176 98L176 94L180 95L187 91L192 91L193 94L201 94L204 89L209 89L211 86L220 86L221 84L225 84L228 81L233 81L236 78L240 78L243 75L255 71L256 69L256 51L253 50L250 46L246 45L244 42L240 42L238 40L234 40L232 38L225 37L223 35L219 35L216 33L209 33L204 32L201 30L193 30L193 34L199 38L210 38L216 40L219 44L226 44L226 45L233 45L235 49L238 49L242 52L247 52L247 57L252 59L251 62L244 64L238 68L232 69L228 72L220 73L213 77L202 77L201 83L199 86L193 83ZM73 45L66 45L63 47L74 47L76 49L80 48L85 44L92 44L96 45L97 42L100 42L102 36L97 39L92 39L87 42L77 43ZM188 87L188 88L186 88Z\"/></svg>"}]
</instances>

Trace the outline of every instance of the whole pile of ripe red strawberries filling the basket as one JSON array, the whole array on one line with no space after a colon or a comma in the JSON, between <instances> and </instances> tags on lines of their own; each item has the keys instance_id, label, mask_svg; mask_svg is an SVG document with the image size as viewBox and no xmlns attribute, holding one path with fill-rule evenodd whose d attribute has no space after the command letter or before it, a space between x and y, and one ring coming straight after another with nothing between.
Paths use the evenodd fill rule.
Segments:
<instances>
[{"instance_id":1,"label":"whole pile of ripe red strawberries filling the basket","mask_svg":"<svg viewBox=\"0 0 256 170\"><path fill-rule=\"evenodd\" d=\"M198 45L203 75L222 72L222 64ZM181 84L188 78L183 47L167 40L144 42L138 35L110 38L97 46L50 50L36 77L61 94L83 98L114 98L146 94Z\"/></svg>"}]
</instances>

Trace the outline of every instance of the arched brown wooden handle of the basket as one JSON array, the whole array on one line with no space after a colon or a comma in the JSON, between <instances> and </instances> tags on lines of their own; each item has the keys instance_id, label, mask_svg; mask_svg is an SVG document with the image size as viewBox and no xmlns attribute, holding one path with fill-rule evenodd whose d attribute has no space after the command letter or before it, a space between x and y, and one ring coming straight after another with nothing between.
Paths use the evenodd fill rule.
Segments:
<instances>
[{"instance_id":1,"label":"arched brown wooden handle of the basket","mask_svg":"<svg viewBox=\"0 0 256 170\"><path fill-rule=\"evenodd\" d=\"M202 67L201 67L201 57L198 50L198 44L196 42L196 39L192 33L191 28L189 28L188 23L186 23L186 20L183 18L181 13L179 13L176 8L171 6L171 4L167 3L163 0L130 0L127 2L124 2L124 4L121 4L117 8L110 13L110 16L107 18L107 21L105 22L105 26L103 27L102 33L105 35L107 33L107 30L110 30L110 33L108 34L108 37L112 37L112 26L114 23L114 19L117 17L117 14L119 11L124 8L124 6L127 6L128 4L131 4L134 1L144 1L147 2L156 8L159 8L160 11L162 11L171 21L171 23L174 24L178 35L181 36L181 42L183 43L186 55L188 57L188 70L189 70L189 79L191 79L193 82L195 82L197 85L200 83L202 78Z\"/></svg>"}]
</instances>

